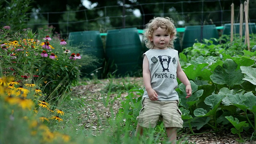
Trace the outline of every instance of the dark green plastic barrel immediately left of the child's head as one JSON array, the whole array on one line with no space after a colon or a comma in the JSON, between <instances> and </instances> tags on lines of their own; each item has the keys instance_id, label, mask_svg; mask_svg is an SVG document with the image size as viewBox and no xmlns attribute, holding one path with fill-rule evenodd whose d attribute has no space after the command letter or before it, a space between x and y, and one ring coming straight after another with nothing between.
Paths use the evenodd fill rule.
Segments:
<instances>
[{"instance_id":1,"label":"dark green plastic barrel immediately left of the child's head","mask_svg":"<svg viewBox=\"0 0 256 144\"><path fill-rule=\"evenodd\" d=\"M142 69L142 44L137 28L108 30L106 38L108 72L134 76Z\"/></svg>"}]
</instances>

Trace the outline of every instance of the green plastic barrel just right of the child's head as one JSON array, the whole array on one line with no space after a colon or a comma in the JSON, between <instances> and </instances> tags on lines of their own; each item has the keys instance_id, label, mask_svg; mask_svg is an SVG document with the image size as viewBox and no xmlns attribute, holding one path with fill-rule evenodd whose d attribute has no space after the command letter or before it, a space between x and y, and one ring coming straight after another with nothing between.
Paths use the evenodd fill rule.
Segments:
<instances>
[{"instance_id":1,"label":"green plastic barrel just right of the child's head","mask_svg":"<svg viewBox=\"0 0 256 144\"><path fill-rule=\"evenodd\" d=\"M194 43L201 41L202 39L219 38L218 30L213 25L201 26L186 26L183 34L182 49L193 46Z\"/></svg>"}]
</instances>

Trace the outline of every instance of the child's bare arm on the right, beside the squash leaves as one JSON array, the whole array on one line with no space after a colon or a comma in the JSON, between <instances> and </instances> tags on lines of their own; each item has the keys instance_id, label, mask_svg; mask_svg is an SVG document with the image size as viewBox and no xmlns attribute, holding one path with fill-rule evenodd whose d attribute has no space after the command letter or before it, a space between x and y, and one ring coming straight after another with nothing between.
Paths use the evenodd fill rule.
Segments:
<instances>
[{"instance_id":1,"label":"child's bare arm on the right, beside the squash leaves","mask_svg":"<svg viewBox=\"0 0 256 144\"><path fill-rule=\"evenodd\" d=\"M186 86L186 93L187 93L186 98L189 98L192 94L191 84L190 84L185 72L183 72L183 70L180 66L179 60L178 60L178 68L177 68L177 78Z\"/></svg>"}]
</instances>

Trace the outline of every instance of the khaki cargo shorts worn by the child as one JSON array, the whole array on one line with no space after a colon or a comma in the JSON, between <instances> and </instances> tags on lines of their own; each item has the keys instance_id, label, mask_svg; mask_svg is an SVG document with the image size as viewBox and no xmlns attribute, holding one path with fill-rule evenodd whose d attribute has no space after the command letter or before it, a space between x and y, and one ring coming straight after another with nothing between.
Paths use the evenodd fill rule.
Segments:
<instances>
[{"instance_id":1,"label":"khaki cargo shorts worn by the child","mask_svg":"<svg viewBox=\"0 0 256 144\"><path fill-rule=\"evenodd\" d=\"M181 115L178 100L152 101L149 98L142 98L142 109L137 120L138 124L145 128L154 128L159 120L163 121L166 128L182 128Z\"/></svg>"}]
</instances>

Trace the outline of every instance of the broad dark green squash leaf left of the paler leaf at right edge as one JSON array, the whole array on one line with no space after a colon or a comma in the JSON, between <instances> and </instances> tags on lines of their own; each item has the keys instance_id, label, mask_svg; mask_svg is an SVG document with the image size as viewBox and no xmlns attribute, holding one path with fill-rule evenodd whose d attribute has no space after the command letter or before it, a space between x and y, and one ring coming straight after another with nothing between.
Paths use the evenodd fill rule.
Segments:
<instances>
[{"instance_id":1,"label":"broad dark green squash leaf left of the paler leaf at right edge","mask_svg":"<svg viewBox=\"0 0 256 144\"><path fill-rule=\"evenodd\" d=\"M233 60L226 59L222 67L216 66L210 78L216 84L226 84L230 87L242 84L244 76L241 70L236 70L236 68L237 64Z\"/></svg>"}]
</instances>

